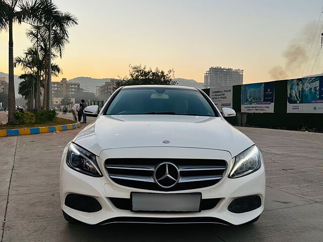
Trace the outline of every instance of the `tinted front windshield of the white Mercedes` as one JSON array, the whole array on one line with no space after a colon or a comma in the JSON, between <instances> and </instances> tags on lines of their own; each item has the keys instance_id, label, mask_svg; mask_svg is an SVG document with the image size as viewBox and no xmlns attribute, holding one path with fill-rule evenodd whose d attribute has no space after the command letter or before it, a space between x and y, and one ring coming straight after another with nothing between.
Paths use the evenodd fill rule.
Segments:
<instances>
[{"instance_id":1,"label":"tinted front windshield of the white Mercedes","mask_svg":"<svg viewBox=\"0 0 323 242\"><path fill-rule=\"evenodd\" d=\"M217 116L198 90L160 87L121 89L105 114Z\"/></svg>"}]
</instances>

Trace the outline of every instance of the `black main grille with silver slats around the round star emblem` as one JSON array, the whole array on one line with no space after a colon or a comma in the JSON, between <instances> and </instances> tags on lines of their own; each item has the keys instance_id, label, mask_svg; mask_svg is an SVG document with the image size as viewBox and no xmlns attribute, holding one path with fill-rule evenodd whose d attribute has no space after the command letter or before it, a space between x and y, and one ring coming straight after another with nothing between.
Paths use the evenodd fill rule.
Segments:
<instances>
[{"instance_id":1,"label":"black main grille with silver slats around the round star emblem","mask_svg":"<svg viewBox=\"0 0 323 242\"><path fill-rule=\"evenodd\" d=\"M175 164L180 171L180 180L172 188L161 188L153 179L155 167L163 162ZM105 161L105 168L109 177L122 186L154 191L181 191L217 184L225 173L227 162L212 159L113 158Z\"/></svg>"}]
</instances>

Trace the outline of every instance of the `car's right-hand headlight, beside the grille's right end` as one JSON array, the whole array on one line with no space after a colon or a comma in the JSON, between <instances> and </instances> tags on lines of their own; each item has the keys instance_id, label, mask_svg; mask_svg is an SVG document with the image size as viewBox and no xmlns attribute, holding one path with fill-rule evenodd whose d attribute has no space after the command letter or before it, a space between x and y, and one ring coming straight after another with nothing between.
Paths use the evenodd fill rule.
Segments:
<instances>
[{"instance_id":1,"label":"car's right-hand headlight, beside the grille's right end","mask_svg":"<svg viewBox=\"0 0 323 242\"><path fill-rule=\"evenodd\" d=\"M234 166L229 174L230 178L237 178L258 170L262 156L258 148L253 145L235 157Z\"/></svg>"}]
</instances>

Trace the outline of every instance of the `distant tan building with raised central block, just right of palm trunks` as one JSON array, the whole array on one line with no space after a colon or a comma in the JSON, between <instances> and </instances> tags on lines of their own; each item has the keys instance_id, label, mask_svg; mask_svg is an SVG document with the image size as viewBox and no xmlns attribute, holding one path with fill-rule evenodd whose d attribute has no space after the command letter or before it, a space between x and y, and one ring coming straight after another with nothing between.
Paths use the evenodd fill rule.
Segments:
<instances>
[{"instance_id":1,"label":"distant tan building with raised central block, just right of palm trunks","mask_svg":"<svg viewBox=\"0 0 323 242\"><path fill-rule=\"evenodd\" d=\"M51 93L53 97L71 96L80 90L80 83L68 82L63 78L61 82L51 83Z\"/></svg>"}]
</instances>

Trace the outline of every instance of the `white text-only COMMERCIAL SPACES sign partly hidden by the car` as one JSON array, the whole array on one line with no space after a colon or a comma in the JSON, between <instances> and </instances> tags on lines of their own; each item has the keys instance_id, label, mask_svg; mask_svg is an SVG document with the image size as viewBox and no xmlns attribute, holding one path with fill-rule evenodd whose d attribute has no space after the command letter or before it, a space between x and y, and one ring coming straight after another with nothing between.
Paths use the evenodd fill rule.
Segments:
<instances>
[{"instance_id":1,"label":"white text-only COMMERCIAL SPACES sign partly hidden by the car","mask_svg":"<svg viewBox=\"0 0 323 242\"><path fill-rule=\"evenodd\" d=\"M223 107L232 108L232 86L210 88L210 98L220 111Z\"/></svg>"}]
</instances>

